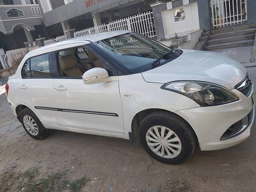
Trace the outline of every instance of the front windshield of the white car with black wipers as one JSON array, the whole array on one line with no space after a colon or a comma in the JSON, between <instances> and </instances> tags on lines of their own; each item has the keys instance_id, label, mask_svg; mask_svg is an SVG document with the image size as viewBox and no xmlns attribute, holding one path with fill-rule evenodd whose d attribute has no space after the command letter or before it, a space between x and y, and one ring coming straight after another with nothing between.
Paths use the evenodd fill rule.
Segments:
<instances>
[{"instance_id":1,"label":"front windshield of the white car with black wipers","mask_svg":"<svg viewBox=\"0 0 256 192\"><path fill-rule=\"evenodd\" d=\"M93 42L93 44L117 60L129 74L150 70L182 54L180 50L172 50L134 32Z\"/></svg>"}]
</instances>

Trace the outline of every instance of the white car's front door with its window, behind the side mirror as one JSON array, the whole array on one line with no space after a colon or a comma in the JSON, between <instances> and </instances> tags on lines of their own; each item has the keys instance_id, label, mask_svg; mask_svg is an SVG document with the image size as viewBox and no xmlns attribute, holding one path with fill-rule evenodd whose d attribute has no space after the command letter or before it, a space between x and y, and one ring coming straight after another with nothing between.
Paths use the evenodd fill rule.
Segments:
<instances>
[{"instance_id":1,"label":"white car's front door with its window, behind the side mirror","mask_svg":"<svg viewBox=\"0 0 256 192\"><path fill-rule=\"evenodd\" d=\"M56 61L60 77L54 79L54 92L68 127L123 134L118 80L90 85L82 81L86 70L105 68L106 62L83 47L56 51Z\"/></svg>"}]
</instances>

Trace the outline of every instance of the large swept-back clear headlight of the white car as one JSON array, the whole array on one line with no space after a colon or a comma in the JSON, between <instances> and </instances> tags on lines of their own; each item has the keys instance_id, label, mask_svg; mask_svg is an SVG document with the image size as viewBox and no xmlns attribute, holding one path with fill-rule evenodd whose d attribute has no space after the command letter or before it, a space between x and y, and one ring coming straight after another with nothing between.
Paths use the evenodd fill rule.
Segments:
<instances>
[{"instance_id":1,"label":"large swept-back clear headlight of the white car","mask_svg":"<svg viewBox=\"0 0 256 192\"><path fill-rule=\"evenodd\" d=\"M216 84L201 81L175 81L161 86L197 102L200 106L216 106L239 100L230 90Z\"/></svg>"}]
</instances>

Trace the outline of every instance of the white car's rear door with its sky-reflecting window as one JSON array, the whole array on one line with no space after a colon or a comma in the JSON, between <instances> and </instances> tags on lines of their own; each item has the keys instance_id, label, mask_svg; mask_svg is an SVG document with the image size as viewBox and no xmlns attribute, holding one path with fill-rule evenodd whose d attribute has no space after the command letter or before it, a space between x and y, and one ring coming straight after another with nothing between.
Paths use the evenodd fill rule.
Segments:
<instances>
[{"instance_id":1,"label":"white car's rear door with its sky-reflecting window","mask_svg":"<svg viewBox=\"0 0 256 192\"><path fill-rule=\"evenodd\" d=\"M34 110L46 123L66 126L66 117L56 110L54 99L54 73L52 70L51 49L40 55L32 55L24 63L18 82L20 97L24 105Z\"/></svg>"}]
</instances>

